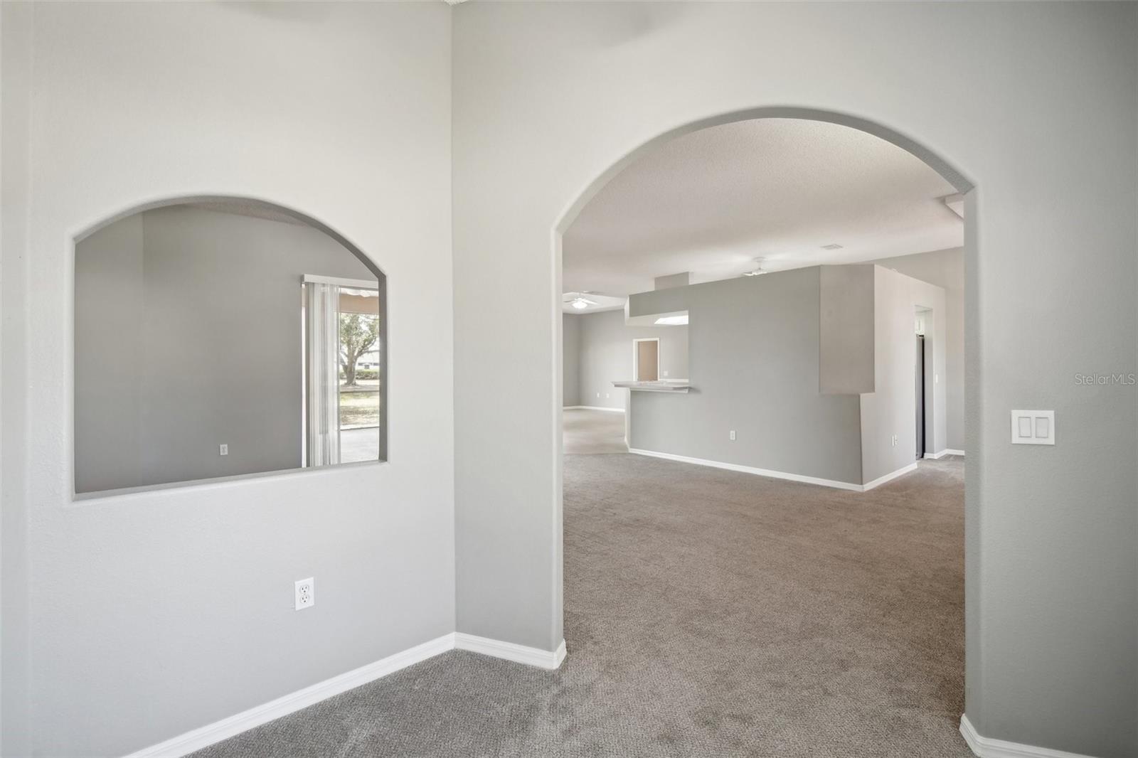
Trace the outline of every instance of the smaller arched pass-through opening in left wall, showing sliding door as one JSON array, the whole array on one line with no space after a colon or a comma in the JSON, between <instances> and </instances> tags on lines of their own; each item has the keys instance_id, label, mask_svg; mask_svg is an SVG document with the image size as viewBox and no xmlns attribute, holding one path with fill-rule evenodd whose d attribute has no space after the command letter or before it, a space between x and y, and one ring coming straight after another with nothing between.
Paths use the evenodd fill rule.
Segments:
<instances>
[{"instance_id":1,"label":"smaller arched pass-through opening in left wall, showing sliding door","mask_svg":"<svg viewBox=\"0 0 1138 758\"><path fill-rule=\"evenodd\" d=\"M73 238L75 500L387 460L387 279L328 224L181 196Z\"/></svg>"}]
</instances>

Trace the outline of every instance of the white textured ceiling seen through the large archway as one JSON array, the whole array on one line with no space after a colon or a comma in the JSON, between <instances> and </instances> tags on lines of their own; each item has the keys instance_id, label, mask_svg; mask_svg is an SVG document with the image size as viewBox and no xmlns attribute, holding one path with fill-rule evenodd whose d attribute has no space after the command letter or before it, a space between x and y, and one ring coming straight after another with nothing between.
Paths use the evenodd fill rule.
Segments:
<instances>
[{"instance_id":1,"label":"white textured ceiling seen through the large archway","mask_svg":"<svg viewBox=\"0 0 1138 758\"><path fill-rule=\"evenodd\" d=\"M652 149L566 232L563 289L629 295L692 282L959 247L954 188L882 139L816 121L762 118ZM838 244L840 250L824 250Z\"/></svg>"}]
</instances>

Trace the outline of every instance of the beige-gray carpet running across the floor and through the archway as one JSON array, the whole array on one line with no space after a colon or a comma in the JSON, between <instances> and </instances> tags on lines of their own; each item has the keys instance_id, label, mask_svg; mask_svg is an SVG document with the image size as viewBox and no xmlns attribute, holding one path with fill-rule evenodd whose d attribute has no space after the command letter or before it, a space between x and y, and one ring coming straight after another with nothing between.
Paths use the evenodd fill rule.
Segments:
<instances>
[{"instance_id":1,"label":"beige-gray carpet running across the floor and through the archway","mask_svg":"<svg viewBox=\"0 0 1138 758\"><path fill-rule=\"evenodd\" d=\"M567 455L560 672L451 652L200 755L964 758L963 475Z\"/></svg>"}]
</instances>

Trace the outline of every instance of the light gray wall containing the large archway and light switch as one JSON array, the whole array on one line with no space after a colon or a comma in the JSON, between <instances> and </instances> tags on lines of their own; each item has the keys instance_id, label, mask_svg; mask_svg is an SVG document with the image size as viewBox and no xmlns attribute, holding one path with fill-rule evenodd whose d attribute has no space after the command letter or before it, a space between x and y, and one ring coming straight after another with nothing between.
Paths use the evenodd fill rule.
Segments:
<instances>
[{"instance_id":1,"label":"light gray wall containing the large archway and light switch","mask_svg":"<svg viewBox=\"0 0 1138 758\"><path fill-rule=\"evenodd\" d=\"M1138 404L1072 377L1138 369L1138 7L476 2L454 19L459 628L562 637L552 230L671 130L807 105L978 188L967 714L987 736L1132 756ZM1055 409L1058 444L1012 446L1013 407Z\"/></svg>"}]
</instances>

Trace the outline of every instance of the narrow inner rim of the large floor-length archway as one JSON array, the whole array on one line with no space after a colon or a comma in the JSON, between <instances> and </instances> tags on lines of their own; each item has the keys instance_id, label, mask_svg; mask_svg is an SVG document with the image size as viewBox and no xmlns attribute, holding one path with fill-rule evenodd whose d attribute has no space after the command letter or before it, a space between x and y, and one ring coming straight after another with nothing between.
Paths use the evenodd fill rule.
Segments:
<instances>
[{"instance_id":1,"label":"narrow inner rim of the large floor-length archway","mask_svg":"<svg viewBox=\"0 0 1138 758\"><path fill-rule=\"evenodd\" d=\"M692 132L696 132L696 131L700 131L700 130L703 130L703 129L712 127L712 126L718 126L718 125L729 124L729 123L735 123L735 122L742 122L742 121L761 120L761 118L783 118L783 120L792 118L792 120L805 120L805 121L819 121L819 122L826 122L826 123L832 123L832 124L838 124L838 125L841 125L841 126L847 126L847 127L856 129L856 130L859 130L861 132L866 132L868 134L872 134L874 137L883 139L883 140L885 140L885 141L888 141L888 142L897 146L897 147L906 150L907 153L912 154L913 156L917 157L918 159L921 159L927 166L930 166L931 168L933 168L938 174L940 174L963 197L963 201L965 203L965 205L967 207L967 212L964 214L965 215L965 233L964 233L964 250L965 250L965 253L964 253L964 257L965 257L966 265L967 265L967 269L970 270L970 272L975 272L976 271L976 266L974 265L974 263L975 263L975 258L976 258L976 254L978 254L978 249L976 249L976 239L978 238L976 238L976 230L975 230L975 214L973 212L974 208L975 208L975 192L974 192L975 184L964 174L963 171L960 171L959 168L957 168L956 166L954 166L950 162L948 162L947 159L945 159L943 157L941 157L933 149L930 149L929 147L922 145L921 142L918 142L918 141L916 141L916 140L914 140L914 139L912 139L912 138L909 138L909 137L907 137L907 135L905 135L905 134L902 134L902 133L900 133L900 132L898 132L896 130L887 127L887 126L884 126L884 125L882 125L880 123L876 123L876 122L873 122L873 121L869 121L869 120L866 120L866 118L861 118L861 117L858 117L858 116L852 116L852 115L849 115L849 114L843 114L843 113L819 110L819 109L806 108L806 107L784 107L784 106L759 107L759 108L751 108L751 109L744 109L744 110L736 110L736 112L725 113L725 114L721 114L721 115L710 116L710 117L707 117L707 118L701 118L701 120L693 121L693 122L690 122L687 124L684 124L682 126L677 126L675 129L671 129L671 130L669 130L667 132L663 132L663 133L659 134L658 137L655 137L653 139L650 139L646 142L643 142L640 146L635 147L634 149L632 149L630 151L628 151L627 154L625 154L622 157L620 157L618 160L616 160L615 163L612 163L603 173L601 173L600 175L597 175L586 188L584 188L582 190L582 192L576 197L576 199L564 209L563 214L561 215L561 217L558 220L558 222L555 223L555 225L553 228L553 256L554 256L554 270L556 272L556 278L555 278L555 282L554 282L553 293L551 293L551 295L552 295L552 302L554 303L554 307L553 307L553 315L554 315L553 333L555 336L555 339L554 339L553 349L554 349L554 354L555 354L555 356L558 356L559 361L560 361L560 356L562 355L562 340L563 340L563 335L562 335L562 329L561 329L561 308L560 308L561 296L562 296L562 286L561 286L561 282L562 282L562 279L561 279L561 271L562 271L562 237L569 230L569 228L571 226L571 224L574 223L574 221L578 217L578 215L584 209L584 207L609 183L610 180L612 180L624 168L626 168L627 166L629 166L630 164L633 164L634 162L636 162L638 158L641 158L644 155L646 155L648 153L650 153L653 148L662 145L663 142L667 142L667 141L681 138L681 137L690 134ZM975 281L974 280L974 273L970 273L970 277L972 277L972 278L967 280L967 283L966 283L966 287L965 287L966 297L968 299L973 298L974 294L975 294L974 293L974 286L975 286L974 285L974 281ZM975 355L976 355L976 352L978 352L978 345L975 344L975 340L972 339L971 337L972 337L972 335L970 335L970 339L966 343L966 345L967 345L966 352L967 352L967 355L968 355L968 362L972 363L973 366L976 366L978 362L974 359L975 359ZM560 382L561 376L562 376L562 372L561 372L560 365L559 365L559 370L556 370L554 372L555 381ZM970 374L967 377L967 385L968 385L968 387L967 387L966 396L968 398L975 398L978 396L978 393L974 392L973 385L979 385L979 366L974 368L970 372ZM559 552L559 554L556 555L556 559L555 559L556 560L556 565L555 565L555 569L554 570L555 570L555 572L558 575L558 590L561 591L561 592L563 592L563 576L561 576L561 574L560 574L562 571L562 566L564 563L564 560L563 560L563 550L564 550L564 547L563 547L563 543L564 543L563 518L564 517L563 517L563 503L562 503L563 463L562 463L562 455L561 455L561 452L562 452L562 447L561 447L561 445L562 445L562 434L561 434L561 428L562 428L562 420L561 420L561 405L562 405L562 402L561 402L561 398L562 398L562 395L561 395L560 384L555 388L554 397L556 398L556 402L554 403L554 410L553 410L553 412L555 414L554 429L555 429L555 435L556 435L555 446L556 446L556 451L558 451L556 460L554 462L554 470L555 470L554 480L556 483L556 489L558 489L558 493L556 493L556 499L558 499L556 500L556 502L558 502L556 524L558 524L559 534L558 534L556 542L558 542L558 545L559 545L559 547L561 550L561 552ZM974 403L974 402L975 402L974 399L970 399L968 401L970 404ZM973 415L973 413L970 411L967 413L967 415L971 418ZM975 456L975 455L978 455L981 452L980 448L979 448L979 439L978 439L978 437L979 437L978 435L974 435L972 432L970 432L970 435L968 435L968 443L970 444L968 444L967 447L968 447L968 452L970 452L970 454L972 456ZM968 473L968 477L967 477L968 484L967 484L966 491L965 491L966 494L965 494L965 508L964 508L964 511L965 511L965 539L964 539L964 542L965 542L966 546L967 545L974 545L975 542L979 539L980 524L979 524L979 519L976 518L976 514L978 514L978 511L979 511L979 503L976 502L976 499L975 499L975 486L974 486L975 476L976 475L973 471L970 470L970 473ZM966 649L965 660L966 661L968 661L968 660L973 661L973 664L971 666L967 665L967 664L965 666L965 677L966 677L966 679L970 677L970 672L974 675L974 672L972 672L972 669L974 668L974 665L975 665L974 664L974 661L975 661L974 654L972 652L968 652L971 650L971 648L972 648L972 644L975 642L975 638L976 638L976 635L974 633L975 632L974 625L976 624L976 616L975 616L975 612L974 612L974 608L975 608L975 603L978 602L976 592L975 592L975 587L974 587L974 582L975 582L975 577L976 577L976 571L975 571L976 567L974 565L970 565L970 561L974 560L974 555L975 555L974 551L970 551L966 547L966 558L965 558L965 598L966 598L966 600L965 600L966 613L965 615L966 615L966 621L965 621L965 632L964 632L965 649ZM563 595L559 595L558 596L558 607L562 608L563 607L563 602L564 602ZM568 640L568 645L569 645L569 651L571 653L571 651L572 651L572 640L571 638ZM967 690L967 686L965 686L965 691L966 690Z\"/></svg>"}]
</instances>

